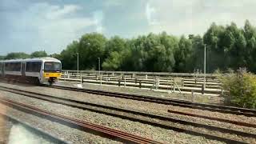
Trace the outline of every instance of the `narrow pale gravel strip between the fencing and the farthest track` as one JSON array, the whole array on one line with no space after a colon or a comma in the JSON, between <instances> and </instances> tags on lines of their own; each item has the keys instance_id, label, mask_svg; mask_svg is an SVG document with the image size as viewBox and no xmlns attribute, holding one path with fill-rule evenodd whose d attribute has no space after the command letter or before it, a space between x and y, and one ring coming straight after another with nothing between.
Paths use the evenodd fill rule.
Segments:
<instances>
[{"instance_id":1,"label":"narrow pale gravel strip between the fencing and the farthest track","mask_svg":"<svg viewBox=\"0 0 256 144\"><path fill-rule=\"evenodd\" d=\"M58 85L63 86L77 86L77 82L58 82ZM223 104L223 98L218 96L206 96L202 94L194 94L194 98L192 98L192 94L178 94L178 93L170 93L167 92L159 92L154 90L148 89L138 89L138 88L131 88L131 87L118 87L118 86L106 86L106 85L96 85L96 84L89 84L83 83L83 87L88 89L94 90L110 90L115 92L123 92L123 93L130 93L130 94L144 94L144 95L152 95L152 96L159 96L159 97L166 97L166 98L176 98L176 99L186 99L198 101L198 102L206 102L206 103L213 103L213 104Z\"/></svg>"}]
</instances>

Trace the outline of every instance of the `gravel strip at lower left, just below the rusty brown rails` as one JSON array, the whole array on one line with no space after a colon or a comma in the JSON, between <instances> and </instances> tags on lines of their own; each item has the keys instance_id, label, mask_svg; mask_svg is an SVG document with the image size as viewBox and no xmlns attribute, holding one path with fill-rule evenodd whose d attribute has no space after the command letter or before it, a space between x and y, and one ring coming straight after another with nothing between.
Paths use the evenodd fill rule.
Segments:
<instances>
[{"instance_id":1,"label":"gravel strip at lower left, just below the rusty brown rails","mask_svg":"<svg viewBox=\"0 0 256 144\"><path fill-rule=\"evenodd\" d=\"M34 126L39 130L52 134L68 143L120 143L111 141L107 138L99 137L94 134L85 133L81 130L76 130L68 126L61 125L58 122L51 122L47 119L38 118L32 114L27 114L22 111L13 109L9 106L2 105L1 103L0 108L6 108L8 116L18 119L18 121L26 122L30 126Z\"/></svg>"}]
</instances>

